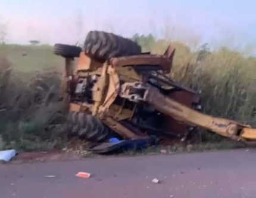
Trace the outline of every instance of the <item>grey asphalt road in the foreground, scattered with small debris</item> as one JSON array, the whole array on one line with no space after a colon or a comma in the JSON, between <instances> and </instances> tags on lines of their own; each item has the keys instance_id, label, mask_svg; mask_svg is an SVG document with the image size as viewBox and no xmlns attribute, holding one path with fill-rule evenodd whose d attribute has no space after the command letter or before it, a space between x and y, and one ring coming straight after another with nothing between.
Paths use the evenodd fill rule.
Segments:
<instances>
[{"instance_id":1,"label":"grey asphalt road in the foreground, scattered with small debris","mask_svg":"<svg viewBox=\"0 0 256 198\"><path fill-rule=\"evenodd\" d=\"M256 150L5 164L0 197L256 197Z\"/></svg>"}]
</instances>

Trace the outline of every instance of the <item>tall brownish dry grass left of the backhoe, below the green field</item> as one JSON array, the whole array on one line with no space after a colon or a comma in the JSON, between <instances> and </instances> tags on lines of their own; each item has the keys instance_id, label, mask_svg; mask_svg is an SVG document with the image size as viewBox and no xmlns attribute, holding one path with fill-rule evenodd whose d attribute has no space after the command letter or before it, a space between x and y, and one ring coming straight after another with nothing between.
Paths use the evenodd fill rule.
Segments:
<instances>
[{"instance_id":1,"label":"tall brownish dry grass left of the backhoe, below the green field","mask_svg":"<svg viewBox=\"0 0 256 198\"><path fill-rule=\"evenodd\" d=\"M52 149L63 142L65 104L61 75L47 71L18 72L0 57L0 148Z\"/></svg>"}]
</instances>

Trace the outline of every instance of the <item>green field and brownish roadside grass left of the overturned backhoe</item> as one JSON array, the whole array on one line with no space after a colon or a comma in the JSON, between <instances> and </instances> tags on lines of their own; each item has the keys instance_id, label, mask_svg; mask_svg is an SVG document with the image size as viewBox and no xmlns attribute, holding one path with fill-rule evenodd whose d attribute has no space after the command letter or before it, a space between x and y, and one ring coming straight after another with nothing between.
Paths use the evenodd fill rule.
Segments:
<instances>
[{"instance_id":1,"label":"green field and brownish roadside grass left of the overturned backhoe","mask_svg":"<svg viewBox=\"0 0 256 198\"><path fill-rule=\"evenodd\" d=\"M61 59L51 46L2 44L0 52L0 149L56 148L65 138Z\"/></svg>"}]
</instances>

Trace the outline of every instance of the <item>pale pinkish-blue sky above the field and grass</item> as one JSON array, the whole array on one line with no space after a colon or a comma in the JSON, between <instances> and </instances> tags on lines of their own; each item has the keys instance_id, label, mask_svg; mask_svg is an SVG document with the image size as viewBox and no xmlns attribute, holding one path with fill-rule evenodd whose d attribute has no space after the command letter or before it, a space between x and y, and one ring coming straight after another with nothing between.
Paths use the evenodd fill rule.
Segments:
<instances>
[{"instance_id":1,"label":"pale pinkish-blue sky above the field and grass","mask_svg":"<svg viewBox=\"0 0 256 198\"><path fill-rule=\"evenodd\" d=\"M255 0L0 0L10 43L72 44L90 30L256 46Z\"/></svg>"}]
</instances>

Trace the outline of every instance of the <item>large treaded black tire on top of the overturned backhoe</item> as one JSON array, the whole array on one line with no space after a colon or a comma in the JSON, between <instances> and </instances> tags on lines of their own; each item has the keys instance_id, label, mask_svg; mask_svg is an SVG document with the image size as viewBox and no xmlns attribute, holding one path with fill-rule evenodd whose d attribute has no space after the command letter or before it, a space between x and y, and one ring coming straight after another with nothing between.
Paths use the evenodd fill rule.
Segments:
<instances>
[{"instance_id":1,"label":"large treaded black tire on top of the overturned backhoe","mask_svg":"<svg viewBox=\"0 0 256 198\"><path fill-rule=\"evenodd\" d=\"M101 60L141 54L139 44L104 31L90 31L86 36L83 50L90 58Z\"/></svg>"}]
</instances>

